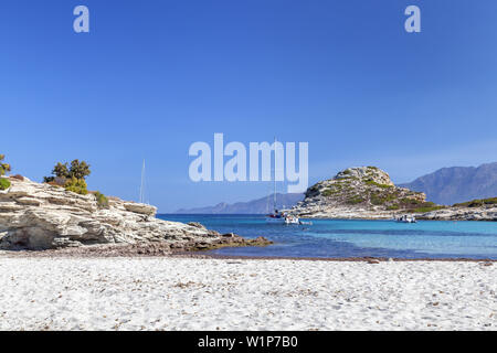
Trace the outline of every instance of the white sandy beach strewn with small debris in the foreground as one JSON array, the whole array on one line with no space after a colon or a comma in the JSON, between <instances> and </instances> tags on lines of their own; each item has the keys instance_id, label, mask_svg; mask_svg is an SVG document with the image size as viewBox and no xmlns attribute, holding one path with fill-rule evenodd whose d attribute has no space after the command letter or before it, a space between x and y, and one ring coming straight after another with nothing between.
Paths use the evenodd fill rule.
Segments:
<instances>
[{"instance_id":1,"label":"white sandy beach strewn with small debris in the foreground","mask_svg":"<svg viewBox=\"0 0 497 353\"><path fill-rule=\"evenodd\" d=\"M496 330L497 264L0 257L1 330Z\"/></svg>"}]
</instances>

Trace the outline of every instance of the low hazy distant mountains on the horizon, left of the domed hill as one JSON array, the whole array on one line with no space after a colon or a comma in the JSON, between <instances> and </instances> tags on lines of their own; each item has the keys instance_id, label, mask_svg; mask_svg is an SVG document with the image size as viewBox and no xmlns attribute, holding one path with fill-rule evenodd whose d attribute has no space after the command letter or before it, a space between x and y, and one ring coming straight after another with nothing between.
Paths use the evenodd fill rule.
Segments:
<instances>
[{"instance_id":1,"label":"low hazy distant mountains on the horizon, left of the domed hill","mask_svg":"<svg viewBox=\"0 0 497 353\"><path fill-rule=\"evenodd\" d=\"M297 202L304 200L304 194L276 194L276 207L289 208ZM266 214L273 211L273 194L266 197L248 201L237 202L233 204L219 203L215 206L198 207L198 208L181 208L176 213L180 214Z\"/></svg>"}]
</instances>

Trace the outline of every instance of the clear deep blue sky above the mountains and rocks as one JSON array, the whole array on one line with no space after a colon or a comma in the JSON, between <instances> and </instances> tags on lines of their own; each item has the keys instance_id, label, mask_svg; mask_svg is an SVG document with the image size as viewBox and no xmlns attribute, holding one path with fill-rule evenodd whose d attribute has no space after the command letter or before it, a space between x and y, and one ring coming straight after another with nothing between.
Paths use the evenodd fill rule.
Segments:
<instances>
[{"instance_id":1,"label":"clear deep blue sky above the mountains and rocks","mask_svg":"<svg viewBox=\"0 0 497 353\"><path fill-rule=\"evenodd\" d=\"M84 159L89 189L131 200L146 158L161 212L267 193L189 181L214 132L308 141L311 183L363 164L411 181L497 160L496 43L495 0L3 0L0 152L34 180Z\"/></svg>"}]
</instances>

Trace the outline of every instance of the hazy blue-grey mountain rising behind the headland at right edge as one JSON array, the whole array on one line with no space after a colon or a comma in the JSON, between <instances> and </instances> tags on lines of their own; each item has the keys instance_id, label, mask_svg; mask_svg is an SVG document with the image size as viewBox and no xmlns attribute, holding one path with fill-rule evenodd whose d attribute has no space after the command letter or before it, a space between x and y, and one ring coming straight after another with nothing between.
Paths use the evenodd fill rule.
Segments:
<instances>
[{"instance_id":1,"label":"hazy blue-grey mountain rising behind the headland at right edge","mask_svg":"<svg viewBox=\"0 0 497 353\"><path fill-rule=\"evenodd\" d=\"M497 162L475 167L442 168L434 173L400 184L426 194L443 205L497 196Z\"/></svg>"}]
</instances>

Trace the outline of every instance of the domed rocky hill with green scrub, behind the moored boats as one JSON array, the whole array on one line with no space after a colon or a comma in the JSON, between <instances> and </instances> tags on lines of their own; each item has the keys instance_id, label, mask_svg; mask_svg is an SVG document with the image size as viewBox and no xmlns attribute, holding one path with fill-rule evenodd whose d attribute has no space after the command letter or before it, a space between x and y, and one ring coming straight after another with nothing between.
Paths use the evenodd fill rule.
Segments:
<instances>
[{"instance_id":1,"label":"domed rocky hill with green scrub, behind the moored boats","mask_svg":"<svg viewBox=\"0 0 497 353\"><path fill-rule=\"evenodd\" d=\"M376 167L349 168L318 182L292 208L302 217L390 218L406 211L436 206L423 193L398 188Z\"/></svg>"}]
</instances>

